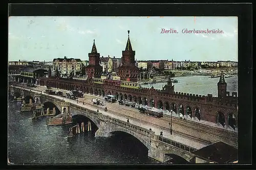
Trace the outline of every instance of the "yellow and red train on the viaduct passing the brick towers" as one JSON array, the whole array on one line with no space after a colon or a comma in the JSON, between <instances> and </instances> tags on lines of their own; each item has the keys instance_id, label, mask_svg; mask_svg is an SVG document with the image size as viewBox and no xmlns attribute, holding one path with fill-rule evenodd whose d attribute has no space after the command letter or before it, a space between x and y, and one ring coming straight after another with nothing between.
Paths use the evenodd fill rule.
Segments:
<instances>
[{"instance_id":1,"label":"yellow and red train on the viaduct passing the brick towers","mask_svg":"<svg viewBox=\"0 0 256 170\"><path fill-rule=\"evenodd\" d=\"M121 81L121 80L93 78L93 83L103 84L105 86L125 87L125 88L133 88L133 89L141 88L140 84L137 82L128 82L128 81Z\"/></svg>"}]
</instances>

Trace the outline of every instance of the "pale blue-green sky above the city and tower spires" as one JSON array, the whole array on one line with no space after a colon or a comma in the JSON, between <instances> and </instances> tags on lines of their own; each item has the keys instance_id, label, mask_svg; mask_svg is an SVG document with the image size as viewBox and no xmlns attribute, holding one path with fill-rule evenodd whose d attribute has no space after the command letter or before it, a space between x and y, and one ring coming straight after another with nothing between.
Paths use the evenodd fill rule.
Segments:
<instances>
[{"instance_id":1,"label":"pale blue-green sky above the city and tower spires","mask_svg":"<svg viewBox=\"0 0 256 170\"><path fill-rule=\"evenodd\" d=\"M8 24L9 61L88 60L94 39L100 56L121 58L127 30L137 60L238 61L237 17L11 16ZM223 33L186 34L183 29Z\"/></svg>"}]
</instances>

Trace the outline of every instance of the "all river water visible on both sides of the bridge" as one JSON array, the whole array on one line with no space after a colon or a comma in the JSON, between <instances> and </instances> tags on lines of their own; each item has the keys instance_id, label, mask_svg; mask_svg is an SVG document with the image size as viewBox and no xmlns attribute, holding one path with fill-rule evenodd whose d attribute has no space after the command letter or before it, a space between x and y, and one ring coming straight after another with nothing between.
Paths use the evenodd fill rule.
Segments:
<instances>
[{"instance_id":1,"label":"all river water visible on both sides of the bridge","mask_svg":"<svg viewBox=\"0 0 256 170\"><path fill-rule=\"evenodd\" d=\"M218 78L193 76L175 79L179 81L175 83L175 91L217 96ZM225 81L227 91L238 92L237 76ZM157 83L154 87L161 89L164 84ZM20 102L9 102L8 157L14 164L158 163L147 157L145 146L131 135L120 133L104 138L87 132L68 139L67 132L72 125L47 126L46 117L34 120L31 112L20 113L19 110Z\"/></svg>"}]
</instances>

